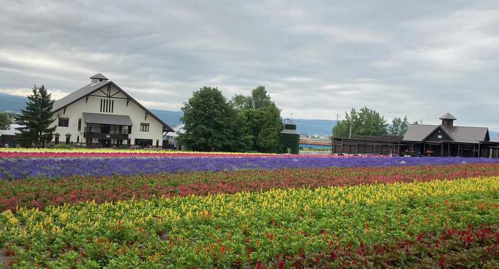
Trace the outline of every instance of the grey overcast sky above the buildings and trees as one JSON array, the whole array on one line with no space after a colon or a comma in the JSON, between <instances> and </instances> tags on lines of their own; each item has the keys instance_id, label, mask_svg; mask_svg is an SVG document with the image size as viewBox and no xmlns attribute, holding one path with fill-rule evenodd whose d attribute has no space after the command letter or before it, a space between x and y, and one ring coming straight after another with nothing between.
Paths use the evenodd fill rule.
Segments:
<instances>
[{"instance_id":1,"label":"grey overcast sky above the buildings and trees","mask_svg":"<svg viewBox=\"0 0 499 269\"><path fill-rule=\"evenodd\" d=\"M499 130L498 1L0 0L0 92L59 99L102 73L149 109L263 85L298 119ZM497 129L495 129L497 128Z\"/></svg>"}]
</instances>

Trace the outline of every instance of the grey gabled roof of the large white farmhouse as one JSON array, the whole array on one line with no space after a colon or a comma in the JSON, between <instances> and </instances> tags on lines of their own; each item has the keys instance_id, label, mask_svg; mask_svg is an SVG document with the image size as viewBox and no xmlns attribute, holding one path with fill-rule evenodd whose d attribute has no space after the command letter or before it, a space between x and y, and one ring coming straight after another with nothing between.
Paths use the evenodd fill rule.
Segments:
<instances>
[{"instance_id":1,"label":"grey gabled roof of the large white farmhouse","mask_svg":"<svg viewBox=\"0 0 499 269\"><path fill-rule=\"evenodd\" d=\"M97 75L99 75L99 74L97 74ZM100 74L100 75L102 76L102 74ZM102 77L105 78L104 76L102 76ZM107 79L107 78L105 78L105 79ZM128 95L125 91L123 91L120 87L118 87L118 85L116 85L112 81L101 82L101 83L95 84L93 86L92 86L92 84L88 84L86 86L83 86L82 88L78 89L78 91L70 93L70 94L64 96L63 98L55 101L54 105L52 106L52 112L55 113L55 112L61 110L64 106L68 106L72 103L75 103L76 101L80 100L81 98L83 98L87 95L90 95L90 94L92 94L92 93L98 91L99 89L101 89L105 86L108 86L108 85L113 85L115 88L118 89L118 91L120 91L122 94L127 96L127 98L130 98L130 100L132 100L135 104L137 104L141 109L146 111L149 115L151 115L153 118L155 118L161 124L163 124L164 128L167 129L166 130L167 132L174 132L173 129L171 129L165 122L163 122L163 120L156 117L156 115L154 115L152 112L150 112L148 109L146 109L146 107L144 107L139 102L137 102L137 100L133 99L130 95Z\"/></svg>"}]
</instances>

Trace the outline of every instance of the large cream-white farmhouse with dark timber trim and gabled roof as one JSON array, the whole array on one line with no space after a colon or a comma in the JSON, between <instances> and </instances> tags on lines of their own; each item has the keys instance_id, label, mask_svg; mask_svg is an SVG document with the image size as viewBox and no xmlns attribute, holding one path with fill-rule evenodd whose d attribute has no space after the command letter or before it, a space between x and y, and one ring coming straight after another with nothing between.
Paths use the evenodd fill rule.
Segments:
<instances>
[{"instance_id":1,"label":"large cream-white farmhouse with dark timber trim and gabled roof","mask_svg":"<svg viewBox=\"0 0 499 269\"><path fill-rule=\"evenodd\" d=\"M54 144L162 148L163 134L174 132L165 122L102 74L90 79L90 84L55 101Z\"/></svg>"}]
</instances>

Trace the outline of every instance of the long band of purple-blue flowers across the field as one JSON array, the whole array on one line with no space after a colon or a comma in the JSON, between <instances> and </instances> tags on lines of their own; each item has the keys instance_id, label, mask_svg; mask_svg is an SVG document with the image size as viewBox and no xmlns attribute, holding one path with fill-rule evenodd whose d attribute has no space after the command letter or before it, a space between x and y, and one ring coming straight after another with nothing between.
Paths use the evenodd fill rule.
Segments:
<instances>
[{"instance_id":1,"label":"long band of purple-blue flowers across the field","mask_svg":"<svg viewBox=\"0 0 499 269\"><path fill-rule=\"evenodd\" d=\"M241 169L327 168L499 163L499 158L461 157L102 157L0 158L0 179L155 174Z\"/></svg>"}]
</instances>

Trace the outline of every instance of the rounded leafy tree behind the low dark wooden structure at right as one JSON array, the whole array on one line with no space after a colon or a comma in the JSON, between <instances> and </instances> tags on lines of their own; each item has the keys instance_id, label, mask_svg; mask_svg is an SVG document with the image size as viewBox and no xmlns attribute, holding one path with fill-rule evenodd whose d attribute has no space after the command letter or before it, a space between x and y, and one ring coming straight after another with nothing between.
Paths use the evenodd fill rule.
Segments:
<instances>
[{"instance_id":1,"label":"rounded leafy tree behind the low dark wooden structure at right","mask_svg":"<svg viewBox=\"0 0 499 269\"><path fill-rule=\"evenodd\" d=\"M360 135L380 136L387 134L387 127L388 123L386 123L383 116L364 106L359 112L355 111L355 109L352 109L350 114L345 112L345 119L336 122L331 131L334 137L350 137L350 130L351 137Z\"/></svg>"}]
</instances>

